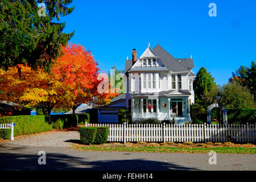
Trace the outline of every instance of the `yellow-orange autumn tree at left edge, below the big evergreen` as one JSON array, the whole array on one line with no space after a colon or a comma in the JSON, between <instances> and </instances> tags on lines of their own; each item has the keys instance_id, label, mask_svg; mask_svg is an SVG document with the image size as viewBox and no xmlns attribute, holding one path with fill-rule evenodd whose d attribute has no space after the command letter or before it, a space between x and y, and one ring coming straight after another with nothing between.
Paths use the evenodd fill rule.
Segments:
<instances>
[{"instance_id":1,"label":"yellow-orange autumn tree at left edge, below the big evergreen","mask_svg":"<svg viewBox=\"0 0 256 182\"><path fill-rule=\"evenodd\" d=\"M53 74L42 69L32 70L26 65L18 67L11 67L8 71L0 69L0 100L41 108L44 115L49 115L69 94Z\"/></svg>"}]
</instances>

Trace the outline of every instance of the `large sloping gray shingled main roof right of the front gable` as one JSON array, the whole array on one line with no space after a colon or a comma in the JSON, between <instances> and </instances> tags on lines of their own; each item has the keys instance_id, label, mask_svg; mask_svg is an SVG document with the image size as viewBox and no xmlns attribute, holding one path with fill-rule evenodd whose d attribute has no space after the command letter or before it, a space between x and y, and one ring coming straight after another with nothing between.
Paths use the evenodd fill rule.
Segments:
<instances>
[{"instance_id":1,"label":"large sloping gray shingled main roof right of the front gable","mask_svg":"<svg viewBox=\"0 0 256 182\"><path fill-rule=\"evenodd\" d=\"M158 55L158 57L163 61L163 63L170 69L172 72L186 72L188 68L184 67L179 63L170 53L164 50L161 46L156 45L153 51Z\"/></svg>"}]
</instances>

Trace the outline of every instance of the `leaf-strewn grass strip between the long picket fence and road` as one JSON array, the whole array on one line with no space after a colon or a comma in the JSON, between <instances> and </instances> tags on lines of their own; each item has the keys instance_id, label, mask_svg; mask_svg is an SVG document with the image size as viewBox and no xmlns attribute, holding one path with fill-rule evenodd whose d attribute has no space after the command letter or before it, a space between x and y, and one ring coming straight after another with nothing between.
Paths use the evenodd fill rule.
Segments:
<instances>
[{"instance_id":1,"label":"leaf-strewn grass strip between the long picket fence and road","mask_svg":"<svg viewBox=\"0 0 256 182\"><path fill-rule=\"evenodd\" d=\"M74 144L73 149L82 151L118 151L118 152L164 152L164 153L208 153L215 151L219 154L256 154L256 148L245 147L126 147L126 146L85 146Z\"/></svg>"}]
</instances>

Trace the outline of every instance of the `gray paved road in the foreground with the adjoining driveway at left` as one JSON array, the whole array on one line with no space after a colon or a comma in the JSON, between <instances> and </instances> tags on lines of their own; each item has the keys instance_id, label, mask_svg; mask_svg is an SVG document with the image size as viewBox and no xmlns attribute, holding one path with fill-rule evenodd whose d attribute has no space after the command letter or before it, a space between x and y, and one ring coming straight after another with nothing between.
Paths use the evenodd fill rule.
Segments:
<instances>
[{"instance_id":1,"label":"gray paved road in the foreground with the adjoining driveway at left","mask_svg":"<svg viewBox=\"0 0 256 182\"><path fill-rule=\"evenodd\" d=\"M67 148L79 139L76 131L35 135L0 145L0 170L256 170L256 155L158 154L76 151ZM57 146L57 147L56 147ZM38 152L46 152L46 165Z\"/></svg>"}]
</instances>

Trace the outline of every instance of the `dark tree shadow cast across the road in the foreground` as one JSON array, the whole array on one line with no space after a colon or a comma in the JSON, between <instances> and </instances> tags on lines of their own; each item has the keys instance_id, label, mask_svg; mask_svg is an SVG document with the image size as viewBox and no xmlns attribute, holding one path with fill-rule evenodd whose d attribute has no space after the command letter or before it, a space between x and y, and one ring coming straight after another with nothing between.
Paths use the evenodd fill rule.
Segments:
<instances>
[{"instance_id":1,"label":"dark tree shadow cast across the road in the foreground","mask_svg":"<svg viewBox=\"0 0 256 182\"><path fill-rule=\"evenodd\" d=\"M2 148L3 149L3 148ZM188 168L177 164L158 162L146 159L131 160L97 160L95 158L83 158L70 156L66 154L56 154L46 151L46 165L38 164L37 148L20 148L19 151L7 153L6 149L0 150L0 170L32 170L32 171L52 171L52 170L96 170L96 171L167 171L167 170L197 170L196 168ZM42 149L42 148L41 148ZM34 154L31 154L31 151ZM72 152L72 151L71 151ZM77 154L77 151L75 152ZM80 153L81 154L81 153ZM83 153L86 156L86 153ZM91 154L90 154L91 155ZM93 154L104 155L104 154ZM89 160L88 160L89 159ZM94 161L92 161L94 160ZM97 161L96 161L97 160Z\"/></svg>"}]
</instances>

